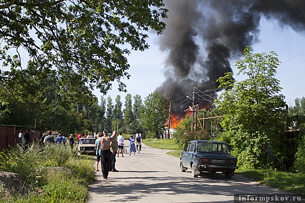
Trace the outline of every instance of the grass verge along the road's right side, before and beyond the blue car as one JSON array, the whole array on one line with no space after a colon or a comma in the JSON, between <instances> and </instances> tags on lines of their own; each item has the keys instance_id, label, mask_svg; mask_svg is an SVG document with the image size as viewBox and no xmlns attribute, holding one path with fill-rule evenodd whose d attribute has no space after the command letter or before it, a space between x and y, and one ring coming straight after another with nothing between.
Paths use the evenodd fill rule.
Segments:
<instances>
[{"instance_id":1,"label":"grass verge along the road's right side, before and beyond the blue car","mask_svg":"<svg viewBox=\"0 0 305 203\"><path fill-rule=\"evenodd\" d=\"M180 153L182 152L182 150L179 150L179 146L176 144L176 140L174 139L147 139L143 142L149 147L175 150L167 153L175 157L180 157ZM305 196L305 174L293 174L277 170L254 170L247 168L238 168L235 173L241 174L273 188Z\"/></svg>"}]
</instances>

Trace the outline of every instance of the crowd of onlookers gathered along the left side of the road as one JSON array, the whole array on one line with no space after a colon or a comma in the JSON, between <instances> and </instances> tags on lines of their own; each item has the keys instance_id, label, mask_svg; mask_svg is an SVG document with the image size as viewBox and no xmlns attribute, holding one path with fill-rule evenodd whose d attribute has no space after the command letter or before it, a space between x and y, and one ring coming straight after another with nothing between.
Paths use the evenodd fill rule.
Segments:
<instances>
[{"instance_id":1,"label":"crowd of onlookers gathered along the left side of the road","mask_svg":"<svg viewBox=\"0 0 305 203\"><path fill-rule=\"evenodd\" d=\"M24 146L25 149L31 147L31 135L34 133L34 130L28 129L25 134L23 130L20 130L18 134L17 143ZM129 141L129 156L133 153L135 155L136 150L141 150L142 139L139 134L134 139L133 136L127 138L123 136L122 133L119 133L117 136L117 131L113 131L111 136L108 136L108 130L104 130L99 133L85 133L82 136L81 132L76 135L76 142L78 143L80 138L95 138L95 144L97 146L97 165L96 171L99 171L99 165L101 163L101 171L103 174L103 179L108 178L109 172L118 172L115 168L116 157L119 157L121 154L124 157L124 137ZM59 146L66 146L69 144L71 150L75 144L74 135L71 133L67 139L66 134L58 133L55 137L52 134L52 131L49 131L48 134L43 133L40 139L40 144L44 146L50 146L51 144L57 144Z\"/></svg>"}]
</instances>

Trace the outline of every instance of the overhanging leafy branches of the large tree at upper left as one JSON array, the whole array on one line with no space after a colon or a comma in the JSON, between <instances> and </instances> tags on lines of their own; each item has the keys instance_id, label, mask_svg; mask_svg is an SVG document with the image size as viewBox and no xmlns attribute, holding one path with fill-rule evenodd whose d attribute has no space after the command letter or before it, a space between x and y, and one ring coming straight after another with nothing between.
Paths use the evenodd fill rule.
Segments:
<instances>
[{"instance_id":1,"label":"overhanging leafy branches of the large tree at upper left","mask_svg":"<svg viewBox=\"0 0 305 203\"><path fill-rule=\"evenodd\" d=\"M82 85L106 93L114 81L126 91L126 56L148 49L149 29L158 35L165 29L163 6L162 0L0 0L0 63L6 67L0 98L5 102L8 91L20 99L36 95L37 81L54 70L62 95Z\"/></svg>"}]
</instances>

